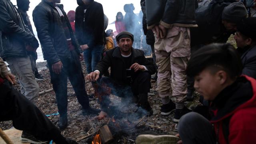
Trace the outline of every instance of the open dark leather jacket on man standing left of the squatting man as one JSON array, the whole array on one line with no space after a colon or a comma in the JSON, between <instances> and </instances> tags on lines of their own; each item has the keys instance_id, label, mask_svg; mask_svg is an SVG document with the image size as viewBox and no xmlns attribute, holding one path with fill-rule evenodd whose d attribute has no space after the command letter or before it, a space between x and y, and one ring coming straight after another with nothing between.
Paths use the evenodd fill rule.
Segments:
<instances>
[{"instance_id":1,"label":"open dark leather jacket on man standing left of the squatting man","mask_svg":"<svg viewBox=\"0 0 256 144\"><path fill-rule=\"evenodd\" d=\"M80 45L73 34L66 12L62 4L56 4L62 10L70 31L72 44L77 52L81 52ZM57 9L53 3L42 0L33 10L33 21L36 26L38 38L42 45L44 59L50 64L54 64L61 59L70 58L67 38L64 33L63 24Z\"/></svg>"}]
</instances>

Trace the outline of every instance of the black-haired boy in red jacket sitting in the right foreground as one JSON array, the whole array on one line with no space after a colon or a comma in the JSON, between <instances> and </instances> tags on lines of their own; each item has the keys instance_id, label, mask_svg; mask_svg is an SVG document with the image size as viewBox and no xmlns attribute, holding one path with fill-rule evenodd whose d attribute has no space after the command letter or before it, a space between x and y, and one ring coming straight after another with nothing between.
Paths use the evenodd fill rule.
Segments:
<instances>
[{"instance_id":1,"label":"black-haired boy in red jacket sitting in the right foreground","mask_svg":"<svg viewBox=\"0 0 256 144\"><path fill-rule=\"evenodd\" d=\"M188 76L194 88L209 100L210 121L196 112L181 117L178 144L254 144L256 143L256 80L240 76L242 63L230 44L210 44L188 62ZM138 136L141 144L148 135ZM174 136L155 136L159 143ZM139 141L139 142L137 142Z\"/></svg>"}]
</instances>

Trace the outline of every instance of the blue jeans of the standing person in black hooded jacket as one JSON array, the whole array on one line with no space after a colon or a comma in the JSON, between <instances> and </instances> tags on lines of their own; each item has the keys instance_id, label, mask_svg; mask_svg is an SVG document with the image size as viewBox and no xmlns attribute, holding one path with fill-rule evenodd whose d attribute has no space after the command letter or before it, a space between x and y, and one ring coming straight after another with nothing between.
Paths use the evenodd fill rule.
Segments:
<instances>
[{"instance_id":1,"label":"blue jeans of the standing person in black hooded jacket","mask_svg":"<svg viewBox=\"0 0 256 144\"><path fill-rule=\"evenodd\" d=\"M96 65L101 60L102 52L102 45L96 45L84 50L84 61L86 64L87 74L90 74L95 70Z\"/></svg>"}]
</instances>

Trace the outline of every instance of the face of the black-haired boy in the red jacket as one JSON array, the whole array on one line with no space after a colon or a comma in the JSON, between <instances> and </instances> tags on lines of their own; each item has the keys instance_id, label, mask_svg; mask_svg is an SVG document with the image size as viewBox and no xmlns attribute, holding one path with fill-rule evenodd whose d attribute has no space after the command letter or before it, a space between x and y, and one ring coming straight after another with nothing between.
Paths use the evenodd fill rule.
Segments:
<instances>
[{"instance_id":1,"label":"face of the black-haired boy in the red jacket","mask_svg":"<svg viewBox=\"0 0 256 144\"><path fill-rule=\"evenodd\" d=\"M218 72L212 74L208 69L195 76L194 88L202 94L205 100L214 100L223 89Z\"/></svg>"}]
</instances>

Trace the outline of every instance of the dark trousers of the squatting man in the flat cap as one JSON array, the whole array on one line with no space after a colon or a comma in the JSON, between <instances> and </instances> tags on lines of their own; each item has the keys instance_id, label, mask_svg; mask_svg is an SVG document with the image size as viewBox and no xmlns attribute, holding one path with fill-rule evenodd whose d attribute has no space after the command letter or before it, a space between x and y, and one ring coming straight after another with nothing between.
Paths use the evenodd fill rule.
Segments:
<instances>
[{"instance_id":1,"label":"dark trousers of the squatting man in the flat cap","mask_svg":"<svg viewBox=\"0 0 256 144\"><path fill-rule=\"evenodd\" d=\"M136 101L144 108L150 108L148 103L148 92L150 91L150 73L138 72L134 78L132 78L132 84L120 85L114 80L108 77L102 77L100 79L100 104L102 110L106 110L110 104L109 95L121 97L128 102Z\"/></svg>"}]
</instances>

